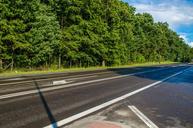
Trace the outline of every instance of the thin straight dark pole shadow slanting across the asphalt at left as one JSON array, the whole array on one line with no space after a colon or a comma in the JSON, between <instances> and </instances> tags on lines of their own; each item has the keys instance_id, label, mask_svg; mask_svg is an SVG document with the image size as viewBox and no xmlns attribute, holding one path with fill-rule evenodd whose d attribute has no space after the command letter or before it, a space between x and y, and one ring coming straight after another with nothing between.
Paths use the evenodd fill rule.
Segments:
<instances>
[{"instance_id":1,"label":"thin straight dark pole shadow slanting across the asphalt at left","mask_svg":"<svg viewBox=\"0 0 193 128\"><path fill-rule=\"evenodd\" d=\"M38 94L40 96L40 99L42 101L44 109L45 109L45 111L46 111L46 113L48 115L50 123L52 124L52 128L58 128L56 120L55 120L55 118L54 118L54 116L53 116L53 114L52 114L52 112L51 112L51 110L50 110L50 108L49 108L49 106L48 106L48 104L46 102L46 99L44 98L44 95L42 94L42 92L41 92L41 90L40 90L40 88L38 86L38 83L35 80L34 80L34 84L36 86L36 89L38 90Z\"/></svg>"}]
</instances>

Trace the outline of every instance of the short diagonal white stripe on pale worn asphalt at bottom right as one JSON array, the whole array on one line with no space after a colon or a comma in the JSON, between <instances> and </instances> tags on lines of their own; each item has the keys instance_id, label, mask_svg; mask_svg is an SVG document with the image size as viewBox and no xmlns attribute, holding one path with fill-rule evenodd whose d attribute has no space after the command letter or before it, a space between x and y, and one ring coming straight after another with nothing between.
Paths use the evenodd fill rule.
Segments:
<instances>
[{"instance_id":1,"label":"short diagonal white stripe on pale worn asphalt at bottom right","mask_svg":"<svg viewBox=\"0 0 193 128\"><path fill-rule=\"evenodd\" d=\"M153 123L147 116L139 111L135 106L128 106L132 112L134 112L149 128L159 128L155 123Z\"/></svg>"}]
</instances>

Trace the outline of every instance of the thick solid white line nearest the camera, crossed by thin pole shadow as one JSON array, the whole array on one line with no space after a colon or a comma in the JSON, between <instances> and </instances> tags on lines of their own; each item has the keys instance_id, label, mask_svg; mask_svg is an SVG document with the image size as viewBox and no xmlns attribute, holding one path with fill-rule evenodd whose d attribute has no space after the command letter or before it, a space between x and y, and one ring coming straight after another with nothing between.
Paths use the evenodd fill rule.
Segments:
<instances>
[{"instance_id":1,"label":"thick solid white line nearest the camera, crossed by thin pole shadow","mask_svg":"<svg viewBox=\"0 0 193 128\"><path fill-rule=\"evenodd\" d=\"M187 69L186 69L186 70L187 70ZM93 112L96 112L96 111L98 111L98 110L100 110L100 109L103 109L103 108L108 107L108 106L110 106L110 105L112 105L112 104L115 104L115 103L117 103L117 102L119 102L119 101L121 101L121 100L124 100L124 99L126 99L126 98L128 98L128 97L130 97L130 96L132 96L132 95L134 95L134 94L137 94L137 93L139 93L139 92L141 92L141 91L144 91L144 90L146 90L146 89L148 89L148 88L150 88L150 87L152 87L152 86L155 86L155 85L157 85L157 84L160 84L160 83L162 83L162 82L164 82L164 81L166 81L166 80L168 80L168 79L170 79L170 78L172 78L172 77L174 77L174 76L177 76L177 75L183 73L184 71L185 71L185 70L180 71L180 72L178 72L178 73L175 73L175 74L173 74L173 75L171 75L171 76L169 76L169 77L166 77L166 78L164 78L164 79L162 79L162 80L160 80L160 81L157 81L157 82L155 82L155 83L149 84L149 85L147 85L147 86L145 86L145 87L142 87L142 88L140 88L140 89L137 89L137 90L135 90L135 91L133 91L133 92L130 92L130 93L128 93L128 94L125 94L125 95L123 95L123 96L121 96L121 97L115 98L115 99L113 99L113 100L110 100L110 101L108 101L108 102L105 102L105 103L103 103L103 104L100 104L100 105L98 105L98 106L96 106L96 107L90 108L90 109L88 109L88 110L86 110L86 111L80 112L80 113L78 113L78 114L76 114L76 115L70 116L70 117L65 118L65 119L63 119L63 120L60 120L60 121L58 121L58 122L56 122L56 123L54 123L54 124L50 124L50 125L48 125L48 126L45 126L44 128L53 128L53 125L57 125L58 127L61 127L61 126L63 126L63 125L66 125L66 124L68 124L68 123L70 123L70 122L73 122L73 121L75 121L75 120L77 120L77 119L80 119L80 118L82 118L82 117L84 117L84 116L87 116L87 115L89 115L89 114L91 114L91 113L93 113Z\"/></svg>"}]
</instances>

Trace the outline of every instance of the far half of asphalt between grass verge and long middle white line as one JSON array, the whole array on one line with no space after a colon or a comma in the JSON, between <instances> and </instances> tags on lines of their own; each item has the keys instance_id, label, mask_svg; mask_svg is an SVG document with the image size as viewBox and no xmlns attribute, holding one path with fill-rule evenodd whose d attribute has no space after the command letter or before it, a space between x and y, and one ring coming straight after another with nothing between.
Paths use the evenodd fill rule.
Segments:
<instances>
[{"instance_id":1,"label":"far half of asphalt between grass verge and long middle white line","mask_svg":"<svg viewBox=\"0 0 193 128\"><path fill-rule=\"evenodd\" d=\"M175 64L174 64L175 65ZM47 75L29 75L0 79L0 95L14 92L21 92L36 89L34 82L37 82L39 88L52 86L53 81L66 80L69 83L84 82L106 77L125 75L141 71L162 70L169 66L152 66L152 67L135 67L135 68L115 68L107 70L71 72L71 73L55 73Z\"/></svg>"}]
</instances>

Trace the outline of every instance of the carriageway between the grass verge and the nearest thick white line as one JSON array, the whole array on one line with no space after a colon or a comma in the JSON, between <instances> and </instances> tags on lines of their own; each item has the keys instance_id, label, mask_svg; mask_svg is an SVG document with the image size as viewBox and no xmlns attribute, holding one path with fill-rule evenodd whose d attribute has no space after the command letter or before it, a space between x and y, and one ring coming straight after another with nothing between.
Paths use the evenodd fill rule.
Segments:
<instances>
[{"instance_id":1,"label":"carriageway between the grass verge and the nearest thick white line","mask_svg":"<svg viewBox=\"0 0 193 128\"><path fill-rule=\"evenodd\" d=\"M0 127L55 124L190 67L163 65L0 79Z\"/></svg>"}]
</instances>

